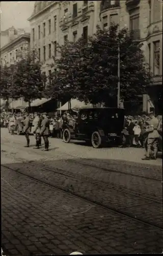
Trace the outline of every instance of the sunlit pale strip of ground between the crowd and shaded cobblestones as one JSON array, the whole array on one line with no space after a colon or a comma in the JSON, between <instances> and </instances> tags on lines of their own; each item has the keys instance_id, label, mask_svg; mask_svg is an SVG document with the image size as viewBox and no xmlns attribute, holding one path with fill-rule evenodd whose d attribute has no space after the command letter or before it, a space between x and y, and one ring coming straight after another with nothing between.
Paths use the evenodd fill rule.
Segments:
<instances>
[{"instance_id":1,"label":"sunlit pale strip of ground between the crowd and shaded cobblestones","mask_svg":"<svg viewBox=\"0 0 163 256\"><path fill-rule=\"evenodd\" d=\"M7 129L1 129L1 143L3 145L3 140L9 140L13 143L21 143L22 146L25 143L24 136L14 135L11 136L8 134ZM30 136L31 145L35 144L34 136ZM42 139L43 143L43 139ZM91 159L100 159L100 160L121 160L121 161L130 161L135 163L143 164L152 164L161 166L162 165L162 153L158 153L158 158L156 160L143 161L145 150L144 148L121 148L121 147L111 147L111 148L93 148L91 146L86 146L84 142L71 141L70 143L64 143L62 139L49 138L49 148L50 151L44 154L48 156L53 156L54 152L57 154L67 155L68 157L76 158L91 158ZM33 150L31 147L30 150Z\"/></svg>"}]
</instances>

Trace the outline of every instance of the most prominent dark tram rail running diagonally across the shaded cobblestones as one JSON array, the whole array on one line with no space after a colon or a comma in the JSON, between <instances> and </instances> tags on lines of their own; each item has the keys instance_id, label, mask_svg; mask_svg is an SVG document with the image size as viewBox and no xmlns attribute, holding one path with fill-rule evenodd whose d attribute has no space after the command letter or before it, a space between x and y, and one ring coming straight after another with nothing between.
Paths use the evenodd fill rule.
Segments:
<instances>
[{"instance_id":1,"label":"most prominent dark tram rail running diagonally across the shaded cobblestones","mask_svg":"<svg viewBox=\"0 0 163 256\"><path fill-rule=\"evenodd\" d=\"M93 204L93 205L100 206L100 207L102 207L102 208L104 208L104 209L107 209L108 211L115 212L115 214L121 215L121 216L123 216L123 217L126 217L126 218L128 218L128 219L137 221L137 222L139 222L139 223L143 223L143 224L145 224L145 225L149 225L149 226L155 227L155 228L157 228L157 229L163 231L163 226L162 226L162 225L158 225L158 224L155 224L155 223L153 223L153 222L149 222L149 221L145 221L145 220L142 220L142 219L139 219L139 218L135 218L134 216L132 216L132 215L126 213L126 212L123 212L123 211L118 210L118 209L116 209L116 208L114 208L114 207L111 207L111 206L104 205L104 204L102 204L102 203L100 203L100 202L97 202L97 201L95 201L95 200L92 200L92 199L90 199L90 198L87 198L86 196L78 195L78 194L76 194L76 193L74 193L74 192L72 192L72 191L67 191L66 189L61 188L61 187L59 187L59 186L57 186L57 185L49 184L49 182L42 181L42 180L40 180L40 179L36 179L36 178L34 178L33 176L31 176L31 175L23 174L22 172L19 172L18 170L15 170L15 169L13 169L13 168L11 168L11 167L8 167L8 166L5 166L5 165L3 165L3 164L2 164L1 166L4 167L4 168L6 168L6 169L8 169L8 170L11 170L12 172L14 172L14 173L16 173L16 174L19 174L19 175L21 175L21 176L23 176L23 177L29 178L29 179L31 179L31 180L37 182L37 183L41 183L41 184L47 185L47 186L49 186L49 187L51 187L51 188L58 189L58 190L62 191L63 193L66 193L67 195L71 195L71 196L73 196L73 197L75 197L75 198L82 199L82 200L84 200L84 201L86 201L86 202L88 202L88 203L91 203L91 204ZM43 167L43 168L44 168L44 167Z\"/></svg>"}]
</instances>

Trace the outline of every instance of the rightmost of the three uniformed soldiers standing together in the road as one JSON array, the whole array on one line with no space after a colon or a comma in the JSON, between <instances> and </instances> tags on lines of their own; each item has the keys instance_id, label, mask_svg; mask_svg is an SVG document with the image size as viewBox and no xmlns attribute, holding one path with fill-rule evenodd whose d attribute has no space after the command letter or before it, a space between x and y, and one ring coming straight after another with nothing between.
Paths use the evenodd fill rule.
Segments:
<instances>
[{"instance_id":1,"label":"rightmost of the three uniformed soldiers standing together in the road","mask_svg":"<svg viewBox=\"0 0 163 256\"><path fill-rule=\"evenodd\" d=\"M41 136L43 136L43 139L45 142L45 150L44 151L48 151L48 148L49 148L48 137L50 134L50 130L49 130L50 120L47 116L47 113L43 113L43 117L44 117L44 119L41 122Z\"/></svg>"}]
</instances>

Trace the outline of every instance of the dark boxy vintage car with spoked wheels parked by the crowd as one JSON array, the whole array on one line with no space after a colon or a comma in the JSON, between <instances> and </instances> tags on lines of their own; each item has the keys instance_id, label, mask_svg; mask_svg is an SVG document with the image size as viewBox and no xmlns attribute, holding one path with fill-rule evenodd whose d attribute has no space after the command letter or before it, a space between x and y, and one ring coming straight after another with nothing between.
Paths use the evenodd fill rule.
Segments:
<instances>
[{"instance_id":1,"label":"dark boxy vintage car with spoked wheels parked by the crowd","mask_svg":"<svg viewBox=\"0 0 163 256\"><path fill-rule=\"evenodd\" d=\"M63 131L63 141L83 140L98 148L109 143L121 144L124 125L124 109L88 108L78 113L74 127L67 125Z\"/></svg>"}]
</instances>

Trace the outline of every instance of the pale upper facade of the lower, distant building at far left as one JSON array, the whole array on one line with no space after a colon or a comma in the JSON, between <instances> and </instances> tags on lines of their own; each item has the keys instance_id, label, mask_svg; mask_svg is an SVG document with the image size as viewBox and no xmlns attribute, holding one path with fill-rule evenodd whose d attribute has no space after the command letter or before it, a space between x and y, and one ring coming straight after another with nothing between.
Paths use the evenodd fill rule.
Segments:
<instances>
[{"instance_id":1,"label":"pale upper facade of the lower, distant building at far left","mask_svg":"<svg viewBox=\"0 0 163 256\"><path fill-rule=\"evenodd\" d=\"M10 40L1 48L1 66L10 66L25 57L30 51L30 33L25 33Z\"/></svg>"}]
</instances>

